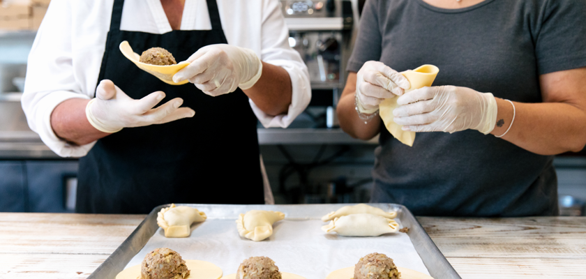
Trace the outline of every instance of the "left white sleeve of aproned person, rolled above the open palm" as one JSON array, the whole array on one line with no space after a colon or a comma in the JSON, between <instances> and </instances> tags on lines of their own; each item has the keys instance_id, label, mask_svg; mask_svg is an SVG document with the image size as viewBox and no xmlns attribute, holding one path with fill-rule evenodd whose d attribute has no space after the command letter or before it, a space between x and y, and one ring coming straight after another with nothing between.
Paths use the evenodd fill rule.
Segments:
<instances>
[{"instance_id":1,"label":"left white sleeve of aproned person, rolled above the open palm","mask_svg":"<svg viewBox=\"0 0 586 279\"><path fill-rule=\"evenodd\" d=\"M68 1L51 1L27 64L22 109L31 130L61 157L85 156L93 144L68 144L55 135L51 114L70 98L89 99L75 82L72 60L71 7Z\"/></svg>"}]
</instances>

